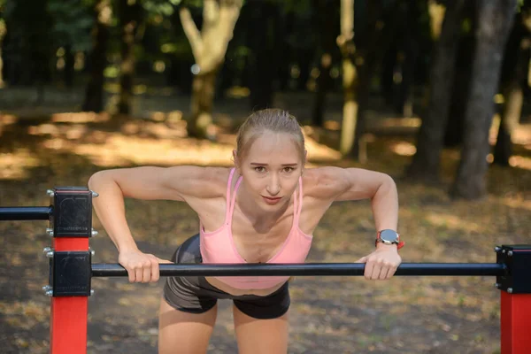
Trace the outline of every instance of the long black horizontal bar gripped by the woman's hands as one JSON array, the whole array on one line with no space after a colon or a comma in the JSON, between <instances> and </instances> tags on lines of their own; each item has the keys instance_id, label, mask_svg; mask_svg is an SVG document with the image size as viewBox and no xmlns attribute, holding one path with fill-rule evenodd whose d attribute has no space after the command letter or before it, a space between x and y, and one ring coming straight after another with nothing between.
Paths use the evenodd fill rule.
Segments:
<instances>
[{"instance_id":1,"label":"long black horizontal bar gripped by the woman's hands","mask_svg":"<svg viewBox=\"0 0 531 354\"><path fill-rule=\"evenodd\" d=\"M363 263L304 263L304 264L161 264L161 276L303 276L303 275L363 275ZM396 275L505 275L506 266L497 263L403 263L398 266ZM127 271L119 264L95 263L92 276L127 276Z\"/></svg>"}]
</instances>

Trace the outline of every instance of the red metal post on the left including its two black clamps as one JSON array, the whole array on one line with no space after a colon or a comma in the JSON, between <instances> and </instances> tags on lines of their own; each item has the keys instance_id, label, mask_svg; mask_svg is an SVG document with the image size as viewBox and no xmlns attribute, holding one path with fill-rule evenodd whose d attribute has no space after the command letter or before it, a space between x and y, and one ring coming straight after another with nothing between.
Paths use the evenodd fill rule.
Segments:
<instances>
[{"instance_id":1,"label":"red metal post on the left including its two black clamps","mask_svg":"<svg viewBox=\"0 0 531 354\"><path fill-rule=\"evenodd\" d=\"M52 296L50 353L86 354L93 195L82 187L56 188L49 195L53 197L49 229L53 253L46 287Z\"/></svg>"}]
</instances>

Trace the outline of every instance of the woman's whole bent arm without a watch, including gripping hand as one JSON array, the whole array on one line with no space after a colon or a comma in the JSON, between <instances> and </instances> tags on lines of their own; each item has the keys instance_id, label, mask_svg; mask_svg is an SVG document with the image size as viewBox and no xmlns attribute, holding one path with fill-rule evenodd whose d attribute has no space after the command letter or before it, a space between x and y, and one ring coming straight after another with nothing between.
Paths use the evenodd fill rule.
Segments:
<instances>
[{"instance_id":1,"label":"woman's whole bent arm without a watch, including gripping hand","mask_svg":"<svg viewBox=\"0 0 531 354\"><path fill-rule=\"evenodd\" d=\"M159 263L169 263L138 250L127 226L124 197L198 201L223 195L222 168L177 166L136 167L106 170L89 179L89 189L99 194L93 200L98 219L119 250L119 264L127 269L129 281L158 281Z\"/></svg>"}]
</instances>

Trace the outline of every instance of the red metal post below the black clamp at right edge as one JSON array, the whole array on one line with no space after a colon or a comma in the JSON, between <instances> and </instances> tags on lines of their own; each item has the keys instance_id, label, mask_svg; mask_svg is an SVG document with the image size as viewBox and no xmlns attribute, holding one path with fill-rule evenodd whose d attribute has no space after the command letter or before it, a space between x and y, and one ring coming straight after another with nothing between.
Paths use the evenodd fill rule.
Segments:
<instances>
[{"instance_id":1,"label":"red metal post below the black clamp at right edge","mask_svg":"<svg viewBox=\"0 0 531 354\"><path fill-rule=\"evenodd\" d=\"M531 352L531 294L501 296L502 354Z\"/></svg>"}]
</instances>

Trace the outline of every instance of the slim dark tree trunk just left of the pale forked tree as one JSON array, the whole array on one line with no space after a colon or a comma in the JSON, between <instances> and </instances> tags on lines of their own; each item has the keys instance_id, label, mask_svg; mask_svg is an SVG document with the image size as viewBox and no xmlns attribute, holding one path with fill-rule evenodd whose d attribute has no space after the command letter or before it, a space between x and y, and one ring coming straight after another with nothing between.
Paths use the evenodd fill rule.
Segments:
<instances>
[{"instance_id":1,"label":"slim dark tree trunk just left of the pale forked tree","mask_svg":"<svg viewBox=\"0 0 531 354\"><path fill-rule=\"evenodd\" d=\"M119 25L121 31L120 70L119 70L119 114L131 113L131 97L133 97L133 79L135 77L135 35L140 20L140 4L130 4L128 0L120 0Z\"/></svg>"}]
</instances>

